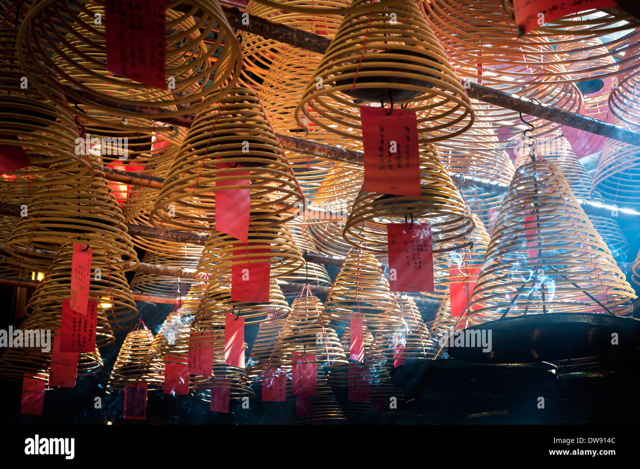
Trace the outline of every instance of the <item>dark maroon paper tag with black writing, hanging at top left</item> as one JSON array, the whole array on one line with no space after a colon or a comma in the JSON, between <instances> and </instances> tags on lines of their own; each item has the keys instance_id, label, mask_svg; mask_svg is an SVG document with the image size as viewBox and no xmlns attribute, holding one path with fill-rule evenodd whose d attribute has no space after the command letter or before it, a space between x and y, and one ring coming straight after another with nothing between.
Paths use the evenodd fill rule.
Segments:
<instances>
[{"instance_id":1,"label":"dark maroon paper tag with black writing, hanging at top left","mask_svg":"<svg viewBox=\"0 0 640 469\"><path fill-rule=\"evenodd\" d=\"M164 90L166 1L106 0L107 70Z\"/></svg>"}]
</instances>

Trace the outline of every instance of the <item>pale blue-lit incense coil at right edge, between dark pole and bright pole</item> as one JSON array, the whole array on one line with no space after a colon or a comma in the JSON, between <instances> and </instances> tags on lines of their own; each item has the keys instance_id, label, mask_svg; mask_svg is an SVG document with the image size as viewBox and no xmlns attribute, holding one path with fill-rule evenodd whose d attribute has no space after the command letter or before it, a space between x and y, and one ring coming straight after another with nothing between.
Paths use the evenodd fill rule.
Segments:
<instances>
[{"instance_id":1,"label":"pale blue-lit incense coil at right edge, between dark pole and bright pole","mask_svg":"<svg viewBox=\"0 0 640 469\"><path fill-rule=\"evenodd\" d=\"M620 122L618 122L620 125ZM623 127L626 127L623 125ZM593 175L593 192L611 205L640 206L640 152L635 145L607 139Z\"/></svg>"}]
</instances>

